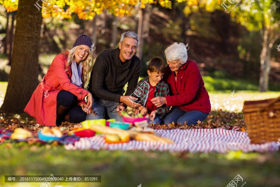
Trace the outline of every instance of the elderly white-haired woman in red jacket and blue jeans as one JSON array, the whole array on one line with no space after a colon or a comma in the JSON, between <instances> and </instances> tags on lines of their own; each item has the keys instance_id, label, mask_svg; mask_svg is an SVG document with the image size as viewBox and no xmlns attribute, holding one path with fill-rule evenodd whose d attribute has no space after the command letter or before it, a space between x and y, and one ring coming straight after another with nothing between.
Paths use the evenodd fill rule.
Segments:
<instances>
[{"instance_id":1,"label":"elderly white-haired woman in red jacket and blue jeans","mask_svg":"<svg viewBox=\"0 0 280 187\"><path fill-rule=\"evenodd\" d=\"M198 66L188 59L183 43L176 42L164 52L168 65L163 81L169 86L170 96L151 100L156 107L172 106L163 123L191 125L203 121L211 111L211 104Z\"/></svg>"}]
</instances>

